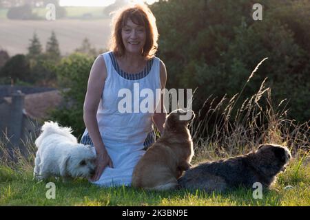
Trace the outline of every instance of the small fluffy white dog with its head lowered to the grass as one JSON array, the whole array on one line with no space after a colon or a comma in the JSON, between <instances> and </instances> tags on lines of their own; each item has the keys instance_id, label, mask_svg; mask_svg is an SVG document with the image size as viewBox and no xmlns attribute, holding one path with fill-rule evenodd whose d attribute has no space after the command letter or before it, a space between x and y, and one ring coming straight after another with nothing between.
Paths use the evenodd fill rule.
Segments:
<instances>
[{"instance_id":1,"label":"small fluffy white dog with its head lowered to the grass","mask_svg":"<svg viewBox=\"0 0 310 220\"><path fill-rule=\"evenodd\" d=\"M56 122L45 122L42 133L35 141L38 147L34 160L34 178L50 176L91 177L94 175L96 155L90 145L79 144L68 127Z\"/></svg>"}]
</instances>

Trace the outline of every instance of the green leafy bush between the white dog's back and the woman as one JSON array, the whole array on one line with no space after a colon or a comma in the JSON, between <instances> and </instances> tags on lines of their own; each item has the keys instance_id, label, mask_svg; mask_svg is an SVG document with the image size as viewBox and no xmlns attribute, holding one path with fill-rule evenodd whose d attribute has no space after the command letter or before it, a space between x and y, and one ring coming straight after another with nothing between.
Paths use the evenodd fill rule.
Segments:
<instances>
[{"instance_id":1,"label":"green leafy bush between the white dog's back and the woman","mask_svg":"<svg viewBox=\"0 0 310 220\"><path fill-rule=\"evenodd\" d=\"M83 103L87 90L87 79L94 58L86 54L74 53L63 58L55 67L59 87L63 89L63 105L52 111L47 120L55 120L63 126L74 127L74 135L82 135L85 126L83 122Z\"/></svg>"}]
</instances>

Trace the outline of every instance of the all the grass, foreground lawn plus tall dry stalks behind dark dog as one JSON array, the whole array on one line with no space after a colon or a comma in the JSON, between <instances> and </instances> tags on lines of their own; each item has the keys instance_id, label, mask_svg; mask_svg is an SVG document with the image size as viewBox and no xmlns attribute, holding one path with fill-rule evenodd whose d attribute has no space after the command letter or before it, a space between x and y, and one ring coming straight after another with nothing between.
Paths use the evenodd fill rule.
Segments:
<instances>
[{"instance_id":1,"label":"all the grass, foreground lawn plus tall dry stalks behind dark dog","mask_svg":"<svg viewBox=\"0 0 310 220\"><path fill-rule=\"evenodd\" d=\"M3 140L0 141L0 206L310 206L309 122L300 124L289 120L287 110L282 107L284 102L275 107L271 89L265 88L264 83L265 80L256 94L239 105L240 94L217 102L207 98L197 113L198 120L189 126L195 146L192 164L249 153L266 142L287 146L293 159L271 189L263 191L262 199L254 199L254 188L223 193L154 192L130 187L99 188L85 179L63 183L52 178L37 182L32 179L36 151L32 140L25 143L28 157L23 157L18 149L12 153L17 158L15 162L8 159L7 140ZM209 108L206 110L205 106ZM55 199L45 197L49 181L56 185Z\"/></svg>"}]
</instances>

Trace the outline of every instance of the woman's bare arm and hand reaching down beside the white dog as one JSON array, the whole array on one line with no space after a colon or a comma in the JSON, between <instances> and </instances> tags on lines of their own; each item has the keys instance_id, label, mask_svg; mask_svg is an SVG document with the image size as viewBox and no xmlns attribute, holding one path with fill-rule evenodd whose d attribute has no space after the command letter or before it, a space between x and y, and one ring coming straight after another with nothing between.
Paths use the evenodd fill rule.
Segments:
<instances>
[{"instance_id":1,"label":"woman's bare arm and hand reaching down beside the white dog","mask_svg":"<svg viewBox=\"0 0 310 220\"><path fill-rule=\"evenodd\" d=\"M99 132L99 126L96 118L96 113L99 107L101 94L104 89L105 78L107 78L107 68L105 67L105 61L100 55L94 61L92 69L90 70L90 77L87 84L87 92L83 107L83 119L90 138L96 148L97 155L97 169L94 175L94 180L99 179L105 166L112 167L112 161L107 154L101 134Z\"/></svg>"}]
</instances>

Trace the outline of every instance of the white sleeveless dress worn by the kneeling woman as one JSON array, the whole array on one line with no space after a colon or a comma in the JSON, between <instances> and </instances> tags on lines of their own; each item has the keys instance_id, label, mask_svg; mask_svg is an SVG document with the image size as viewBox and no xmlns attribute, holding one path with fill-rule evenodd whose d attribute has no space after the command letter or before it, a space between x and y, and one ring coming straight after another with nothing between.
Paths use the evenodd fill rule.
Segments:
<instances>
[{"instance_id":1,"label":"white sleeveless dress worn by the kneeling woman","mask_svg":"<svg viewBox=\"0 0 310 220\"><path fill-rule=\"evenodd\" d=\"M159 102L156 100L156 92L159 96L158 92L161 89L160 60L154 57L147 62L142 72L127 74L118 66L113 52L106 52L101 56L107 67L107 78L96 117L103 143L114 168L107 166L100 179L92 183L108 187L130 186L134 166L145 153L145 148L154 143L152 116ZM127 89L132 94L130 112L122 113L123 111L118 109L118 103L125 97L123 93L118 97L121 89ZM144 111L136 109L147 97L143 97L142 94L142 97L139 96L143 89L151 89L154 94L152 112L143 113ZM122 106L127 107L125 104ZM94 146L87 129L83 133L81 143Z\"/></svg>"}]
</instances>

